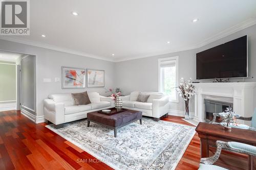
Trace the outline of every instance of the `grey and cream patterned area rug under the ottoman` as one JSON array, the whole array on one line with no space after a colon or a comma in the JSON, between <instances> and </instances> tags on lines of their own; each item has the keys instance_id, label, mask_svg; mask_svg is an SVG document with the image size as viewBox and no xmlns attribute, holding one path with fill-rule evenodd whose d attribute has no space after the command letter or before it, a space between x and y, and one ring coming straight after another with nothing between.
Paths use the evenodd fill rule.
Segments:
<instances>
[{"instance_id":1,"label":"grey and cream patterned area rug under the ottoman","mask_svg":"<svg viewBox=\"0 0 256 170\"><path fill-rule=\"evenodd\" d=\"M114 169L175 169L195 127L143 118L143 124L132 123L117 130L87 120L79 120L55 129L47 128Z\"/></svg>"}]
</instances>

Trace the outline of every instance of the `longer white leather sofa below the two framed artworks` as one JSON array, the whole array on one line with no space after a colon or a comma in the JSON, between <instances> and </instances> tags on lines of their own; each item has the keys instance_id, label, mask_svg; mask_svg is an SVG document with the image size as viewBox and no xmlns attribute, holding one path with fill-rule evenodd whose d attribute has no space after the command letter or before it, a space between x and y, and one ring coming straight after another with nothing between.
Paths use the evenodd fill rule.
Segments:
<instances>
[{"instance_id":1,"label":"longer white leather sofa below the two framed artworks","mask_svg":"<svg viewBox=\"0 0 256 170\"><path fill-rule=\"evenodd\" d=\"M91 104L75 105L71 93L51 94L44 100L44 114L46 122L51 122L56 128L63 127L64 123L87 118L87 113L115 107L111 97L99 95L97 92L89 92Z\"/></svg>"}]
</instances>

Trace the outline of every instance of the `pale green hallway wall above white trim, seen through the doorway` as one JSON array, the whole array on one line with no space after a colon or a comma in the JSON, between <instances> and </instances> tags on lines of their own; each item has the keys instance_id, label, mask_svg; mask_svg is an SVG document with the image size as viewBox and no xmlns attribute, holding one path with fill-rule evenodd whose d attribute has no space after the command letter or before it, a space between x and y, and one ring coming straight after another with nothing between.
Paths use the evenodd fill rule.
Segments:
<instances>
[{"instance_id":1,"label":"pale green hallway wall above white trim, seen through the doorway","mask_svg":"<svg viewBox=\"0 0 256 170\"><path fill-rule=\"evenodd\" d=\"M2 63L11 63L2 64ZM0 102L16 100L16 66L0 61Z\"/></svg>"}]
</instances>

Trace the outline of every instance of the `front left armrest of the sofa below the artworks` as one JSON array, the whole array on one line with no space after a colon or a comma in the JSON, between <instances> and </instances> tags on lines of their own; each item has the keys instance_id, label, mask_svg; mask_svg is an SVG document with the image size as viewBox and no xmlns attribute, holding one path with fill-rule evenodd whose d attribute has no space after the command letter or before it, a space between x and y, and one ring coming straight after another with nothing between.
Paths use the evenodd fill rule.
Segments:
<instances>
[{"instance_id":1,"label":"front left armrest of the sofa below the artworks","mask_svg":"<svg viewBox=\"0 0 256 170\"><path fill-rule=\"evenodd\" d=\"M55 125L65 123L65 105L64 103L56 103L52 99L44 100L45 119Z\"/></svg>"}]
</instances>

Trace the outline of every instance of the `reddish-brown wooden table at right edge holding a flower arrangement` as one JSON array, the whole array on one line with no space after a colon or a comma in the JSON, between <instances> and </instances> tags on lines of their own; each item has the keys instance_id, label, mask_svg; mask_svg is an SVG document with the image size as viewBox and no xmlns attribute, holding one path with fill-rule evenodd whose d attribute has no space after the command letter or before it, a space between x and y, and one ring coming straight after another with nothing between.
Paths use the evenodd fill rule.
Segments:
<instances>
[{"instance_id":1,"label":"reddish-brown wooden table at right edge holding a flower arrangement","mask_svg":"<svg viewBox=\"0 0 256 170\"><path fill-rule=\"evenodd\" d=\"M256 131L232 128L224 131L223 126L200 122L196 128L201 141L201 158L209 157L209 145L215 146L217 140L236 141L256 146ZM248 157L249 167L253 169L253 157Z\"/></svg>"}]
</instances>

